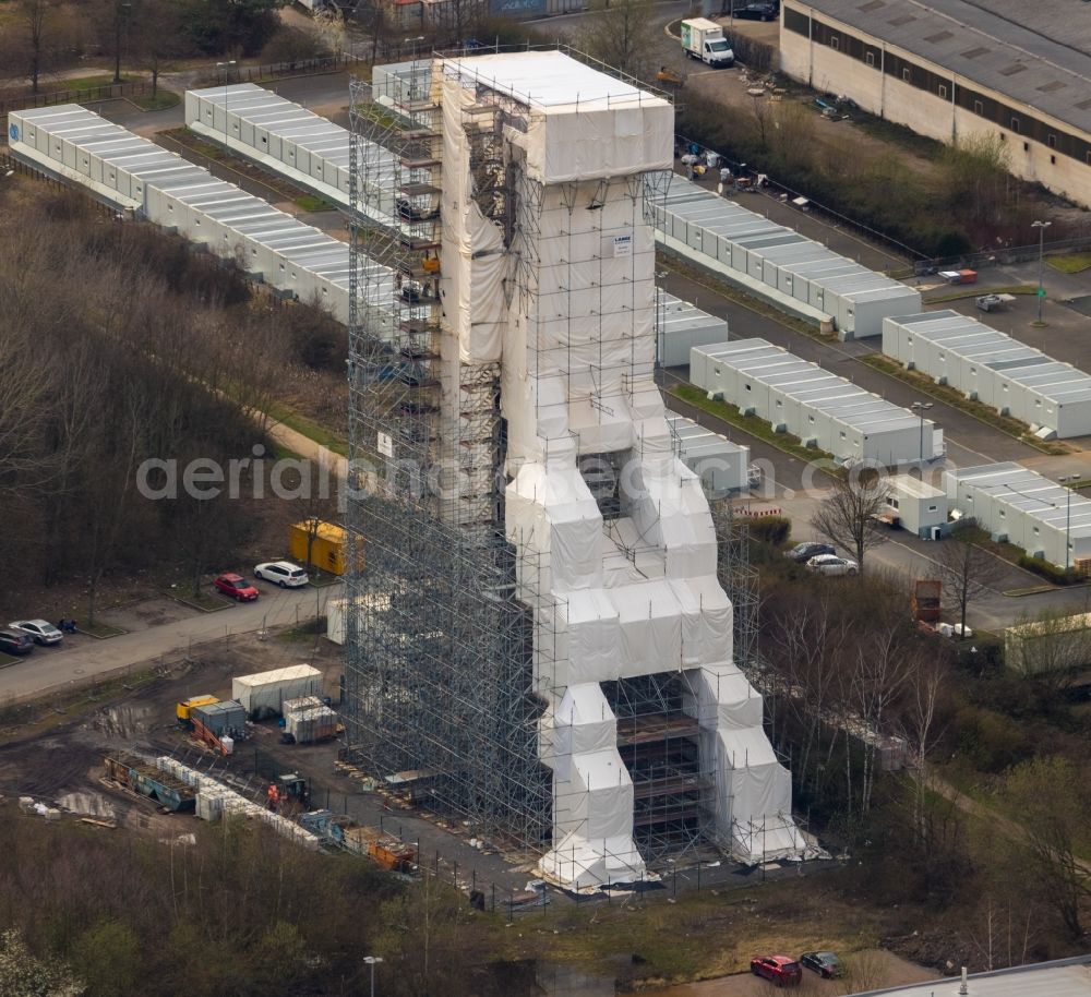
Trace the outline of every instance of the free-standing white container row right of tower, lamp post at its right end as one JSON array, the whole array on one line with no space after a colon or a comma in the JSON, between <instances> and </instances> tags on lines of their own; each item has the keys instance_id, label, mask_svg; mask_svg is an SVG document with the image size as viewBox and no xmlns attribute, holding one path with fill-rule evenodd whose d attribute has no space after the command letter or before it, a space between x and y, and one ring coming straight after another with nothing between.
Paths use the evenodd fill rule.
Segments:
<instances>
[{"instance_id":1,"label":"free-standing white container row right of tower, lamp post at its right end","mask_svg":"<svg viewBox=\"0 0 1091 997\"><path fill-rule=\"evenodd\" d=\"M694 349L690 380L840 464L897 467L944 453L943 431L930 419L765 339Z\"/></svg>"}]
</instances>

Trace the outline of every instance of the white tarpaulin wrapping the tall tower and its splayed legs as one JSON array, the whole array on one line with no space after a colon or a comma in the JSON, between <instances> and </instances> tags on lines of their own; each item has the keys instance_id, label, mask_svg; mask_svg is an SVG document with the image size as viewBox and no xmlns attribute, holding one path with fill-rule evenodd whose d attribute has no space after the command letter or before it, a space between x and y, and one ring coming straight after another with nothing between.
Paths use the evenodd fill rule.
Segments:
<instances>
[{"instance_id":1,"label":"white tarpaulin wrapping the tall tower and its splayed legs","mask_svg":"<svg viewBox=\"0 0 1091 997\"><path fill-rule=\"evenodd\" d=\"M708 503L652 380L642 175L670 167L672 111L559 52L443 60L442 74L445 323L463 362L503 360L506 534L549 704L539 750L553 770L553 849L541 870L570 889L639 880L634 786L602 683L684 674L721 841L791 809L762 699L732 664ZM469 169L497 123L519 192L511 245L475 204Z\"/></svg>"}]
</instances>

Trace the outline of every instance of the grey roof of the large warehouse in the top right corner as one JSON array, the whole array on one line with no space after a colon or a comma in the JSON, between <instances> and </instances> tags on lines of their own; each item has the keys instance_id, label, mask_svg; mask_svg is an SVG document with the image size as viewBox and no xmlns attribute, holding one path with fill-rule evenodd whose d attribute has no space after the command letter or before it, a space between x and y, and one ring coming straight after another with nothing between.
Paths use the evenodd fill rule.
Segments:
<instances>
[{"instance_id":1,"label":"grey roof of the large warehouse in the top right corner","mask_svg":"<svg viewBox=\"0 0 1091 997\"><path fill-rule=\"evenodd\" d=\"M969 0L807 0L800 9L1091 132L1091 11L1072 0L1004 5L1007 14Z\"/></svg>"}]
</instances>

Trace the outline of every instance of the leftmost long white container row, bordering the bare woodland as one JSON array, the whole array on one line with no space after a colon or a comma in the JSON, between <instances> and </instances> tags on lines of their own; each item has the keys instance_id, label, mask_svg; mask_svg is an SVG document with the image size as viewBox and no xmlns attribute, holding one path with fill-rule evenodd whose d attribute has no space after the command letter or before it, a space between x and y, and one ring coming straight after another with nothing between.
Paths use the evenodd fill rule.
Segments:
<instances>
[{"instance_id":1,"label":"leftmost long white container row, bordering the bare woodland","mask_svg":"<svg viewBox=\"0 0 1091 997\"><path fill-rule=\"evenodd\" d=\"M254 278L300 300L317 301L348 322L345 242L79 105L13 111L9 142L16 158L235 260ZM388 269L369 265L380 276L367 286L377 288L384 278L393 285ZM388 335L387 329L376 332Z\"/></svg>"}]
</instances>

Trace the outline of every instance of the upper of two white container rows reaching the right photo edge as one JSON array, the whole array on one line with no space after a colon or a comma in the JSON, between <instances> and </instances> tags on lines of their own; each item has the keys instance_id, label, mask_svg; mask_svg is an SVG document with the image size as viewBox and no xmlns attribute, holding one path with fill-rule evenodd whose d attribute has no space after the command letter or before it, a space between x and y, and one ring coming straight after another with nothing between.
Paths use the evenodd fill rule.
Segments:
<instances>
[{"instance_id":1,"label":"upper of two white container rows reaching the right photo edge","mask_svg":"<svg viewBox=\"0 0 1091 997\"><path fill-rule=\"evenodd\" d=\"M883 352L1030 425L1040 439L1091 433L1091 374L955 311L887 319Z\"/></svg>"}]
</instances>

